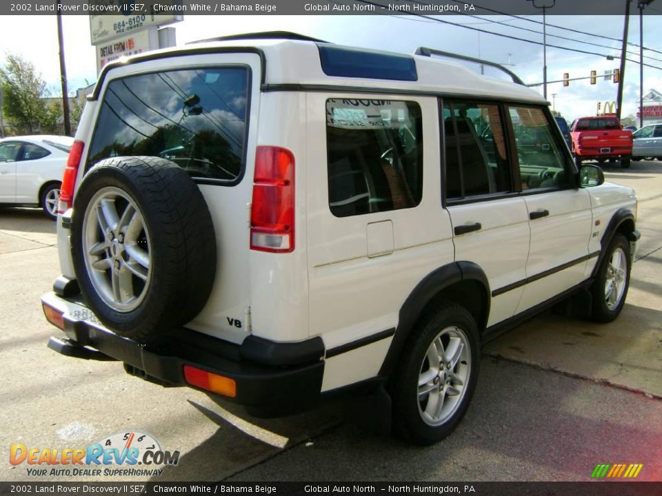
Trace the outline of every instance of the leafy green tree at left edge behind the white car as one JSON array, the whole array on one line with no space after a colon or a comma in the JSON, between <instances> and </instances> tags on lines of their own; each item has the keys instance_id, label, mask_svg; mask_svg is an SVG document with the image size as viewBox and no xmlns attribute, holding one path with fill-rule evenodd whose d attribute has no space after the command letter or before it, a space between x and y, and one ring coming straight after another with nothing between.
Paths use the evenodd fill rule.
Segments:
<instances>
[{"instance_id":1,"label":"leafy green tree at left edge behind the white car","mask_svg":"<svg viewBox=\"0 0 662 496\"><path fill-rule=\"evenodd\" d=\"M32 63L20 55L8 54L5 68L0 68L3 112L19 132L32 134L48 121L43 96L46 83Z\"/></svg>"}]
</instances>

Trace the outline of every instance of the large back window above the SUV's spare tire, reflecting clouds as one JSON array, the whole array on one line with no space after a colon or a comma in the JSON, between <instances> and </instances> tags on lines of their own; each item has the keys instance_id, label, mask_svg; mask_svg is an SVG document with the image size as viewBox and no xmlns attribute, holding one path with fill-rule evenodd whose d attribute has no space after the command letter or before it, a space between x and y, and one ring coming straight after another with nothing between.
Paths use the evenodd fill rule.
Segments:
<instances>
[{"instance_id":1,"label":"large back window above the SUV's spare tire, reflecting clouds","mask_svg":"<svg viewBox=\"0 0 662 496\"><path fill-rule=\"evenodd\" d=\"M87 167L113 156L159 156L194 178L243 172L249 72L197 68L115 79L103 95Z\"/></svg>"}]
</instances>

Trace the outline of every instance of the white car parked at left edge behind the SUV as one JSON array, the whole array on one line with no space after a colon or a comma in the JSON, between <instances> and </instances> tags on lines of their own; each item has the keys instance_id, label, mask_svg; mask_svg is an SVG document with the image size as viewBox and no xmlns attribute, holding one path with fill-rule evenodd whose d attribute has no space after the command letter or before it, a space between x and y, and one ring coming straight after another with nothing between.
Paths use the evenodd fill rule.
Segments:
<instances>
[{"instance_id":1,"label":"white car parked at left edge behind the SUV","mask_svg":"<svg viewBox=\"0 0 662 496\"><path fill-rule=\"evenodd\" d=\"M53 220L64 167L74 138L13 136L0 139L0 204L41 207Z\"/></svg>"}]
</instances>

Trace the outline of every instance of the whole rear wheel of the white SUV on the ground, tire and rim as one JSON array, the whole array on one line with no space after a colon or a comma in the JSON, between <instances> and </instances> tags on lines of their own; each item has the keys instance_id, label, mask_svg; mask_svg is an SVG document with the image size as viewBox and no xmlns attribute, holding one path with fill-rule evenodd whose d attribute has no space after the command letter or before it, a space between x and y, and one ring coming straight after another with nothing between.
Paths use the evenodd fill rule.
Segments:
<instances>
[{"instance_id":1,"label":"whole rear wheel of the white SUV on the ground, tire and rim","mask_svg":"<svg viewBox=\"0 0 662 496\"><path fill-rule=\"evenodd\" d=\"M423 445L452 433L473 395L480 359L478 327L466 309L443 303L426 311L393 376L397 433Z\"/></svg>"}]
</instances>

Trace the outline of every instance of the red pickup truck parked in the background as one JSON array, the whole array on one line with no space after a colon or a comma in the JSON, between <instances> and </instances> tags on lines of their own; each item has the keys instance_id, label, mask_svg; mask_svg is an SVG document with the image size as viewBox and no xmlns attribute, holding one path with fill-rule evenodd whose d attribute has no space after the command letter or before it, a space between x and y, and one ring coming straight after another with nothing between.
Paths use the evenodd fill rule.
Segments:
<instances>
[{"instance_id":1,"label":"red pickup truck parked in the background","mask_svg":"<svg viewBox=\"0 0 662 496\"><path fill-rule=\"evenodd\" d=\"M621 160L621 167L630 167L632 131L623 130L616 116L580 117L570 125L571 151L577 167L582 161Z\"/></svg>"}]
</instances>

